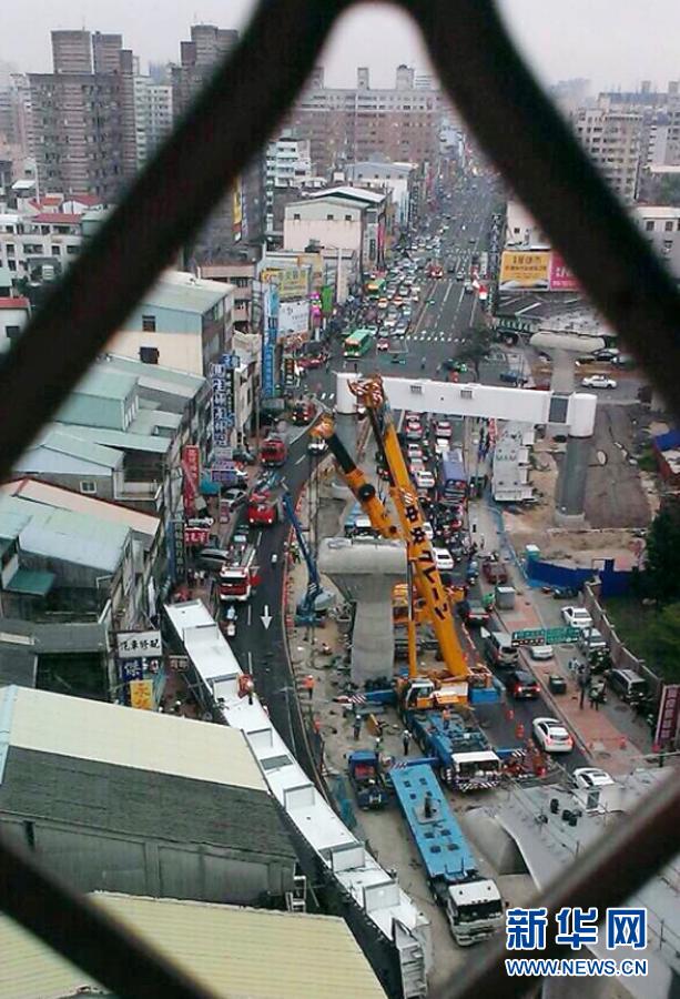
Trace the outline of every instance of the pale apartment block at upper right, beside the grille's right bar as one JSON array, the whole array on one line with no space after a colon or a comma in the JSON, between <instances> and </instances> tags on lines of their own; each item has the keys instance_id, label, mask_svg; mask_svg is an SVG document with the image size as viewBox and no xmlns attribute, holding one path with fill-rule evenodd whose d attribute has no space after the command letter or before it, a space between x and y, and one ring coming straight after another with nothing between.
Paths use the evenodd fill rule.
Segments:
<instances>
[{"instance_id":1,"label":"pale apartment block at upper right, beside the grille's right bar","mask_svg":"<svg viewBox=\"0 0 680 999\"><path fill-rule=\"evenodd\" d=\"M581 108L572 115L576 134L623 199L635 201L640 176L643 117L638 112Z\"/></svg>"}]
</instances>

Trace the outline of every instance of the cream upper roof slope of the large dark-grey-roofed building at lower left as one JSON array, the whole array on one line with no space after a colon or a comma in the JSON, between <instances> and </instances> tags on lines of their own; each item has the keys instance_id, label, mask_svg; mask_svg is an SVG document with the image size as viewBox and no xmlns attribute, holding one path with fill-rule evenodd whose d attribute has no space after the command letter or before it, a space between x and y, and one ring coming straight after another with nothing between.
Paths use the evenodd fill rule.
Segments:
<instances>
[{"instance_id":1,"label":"cream upper roof slope of the large dark-grey-roofed building at lower left","mask_svg":"<svg viewBox=\"0 0 680 999\"><path fill-rule=\"evenodd\" d=\"M0 689L0 715L6 704L20 749L266 790L243 733L225 725L13 687Z\"/></svg>"}]
</instances>

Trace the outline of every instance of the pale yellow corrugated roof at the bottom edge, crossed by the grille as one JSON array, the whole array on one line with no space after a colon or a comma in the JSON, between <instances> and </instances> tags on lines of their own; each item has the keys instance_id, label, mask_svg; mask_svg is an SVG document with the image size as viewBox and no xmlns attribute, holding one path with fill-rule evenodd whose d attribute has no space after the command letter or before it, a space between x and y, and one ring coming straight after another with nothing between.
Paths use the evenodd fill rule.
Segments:
<instances>
[{"instance_id":1,"label":"pale yellow corrugated roof at the bottom edge, crossed by the grille","mask_svg":"<svg viewBox=\"0 0 680 999\"><path fill-rule=\"evenodd\" d=\"M385 999L337 917L123 895L91 897L224 999ZM4 917L0 952L0 995L12 999L58 999L95 983Z\"/></svg>"}]
</instances>

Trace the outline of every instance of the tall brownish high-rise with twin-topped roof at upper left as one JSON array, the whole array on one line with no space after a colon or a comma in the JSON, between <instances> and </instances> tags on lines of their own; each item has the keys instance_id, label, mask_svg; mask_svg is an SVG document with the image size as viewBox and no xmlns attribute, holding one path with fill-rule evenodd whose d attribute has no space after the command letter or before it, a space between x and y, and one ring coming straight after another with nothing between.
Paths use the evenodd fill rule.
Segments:
<instances>
[{"instance_id":1,"label":"tall brownish high-rise with twin-topped roof at upper left","mask_svg":"<svg viewBox=\"0 0 680 999\"><path fill-rule=\"evenodd\" d=\"M136 168L134 64L120 34L52 32L52 73L31 73L41 191L116 198Z\"/></svg>"}]
</instances>

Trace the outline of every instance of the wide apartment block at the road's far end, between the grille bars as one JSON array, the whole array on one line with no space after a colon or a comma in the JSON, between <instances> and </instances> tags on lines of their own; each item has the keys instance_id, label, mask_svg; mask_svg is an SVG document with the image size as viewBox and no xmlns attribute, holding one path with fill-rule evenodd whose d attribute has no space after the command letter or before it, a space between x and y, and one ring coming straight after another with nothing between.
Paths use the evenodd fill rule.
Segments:
<instances>
[{"instance_id":1,"label":"wide apartment block at the road's far end, between the grille bars","mask_svg":"<svg viewBox=\"0 0 680 999\"><path fill-rule=\"evenodd\" d=\"M332 88L317 68L288 117L295 133L309 140L313 171L329 176L376 154L436 162L443 103L438 90L422 84L410 67L399 65L393 88L373 88L368 69L361 67L355 88Z\"/></svg>"}]
</instances>

